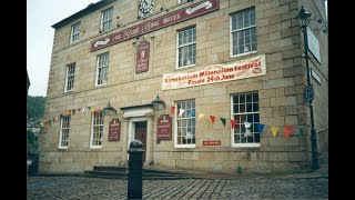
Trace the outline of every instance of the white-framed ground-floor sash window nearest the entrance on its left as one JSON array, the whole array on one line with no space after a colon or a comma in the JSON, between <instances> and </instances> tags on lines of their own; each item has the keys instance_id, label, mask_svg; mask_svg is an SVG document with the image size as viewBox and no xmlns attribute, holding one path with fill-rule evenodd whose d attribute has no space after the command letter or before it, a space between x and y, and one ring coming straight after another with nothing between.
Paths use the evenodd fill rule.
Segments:
<instances>
[{"instance_id":1,"label":"white-framed ground-floor sash window nearest the entrance on its left","mask_svg":"<svg viewBox=\"0 0 355 200\"><path fill-rule=\"evenodd\" d=\"M102 148L103 126L104 126L103 112L100 112L100 113L93 112L91 114L90 149Z\"/></svg>"}]
</instances>

